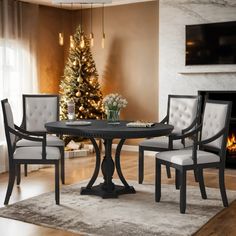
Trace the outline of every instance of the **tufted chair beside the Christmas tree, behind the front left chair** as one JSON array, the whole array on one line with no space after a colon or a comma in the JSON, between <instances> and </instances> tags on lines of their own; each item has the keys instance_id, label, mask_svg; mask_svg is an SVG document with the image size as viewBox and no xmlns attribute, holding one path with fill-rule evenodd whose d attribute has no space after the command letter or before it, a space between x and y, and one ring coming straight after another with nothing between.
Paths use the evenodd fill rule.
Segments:
<instances>
[{"instance_id":1,"label":"tufted chair beside the Christmas tree, behind the front left chair","mask_svg":"<svg viewBox=\"0 0 236 236\"><path fill-rule=\"evenodd\" d=\"M23 120L21 127L29 132L45 133L45 123L59 120L59 96L46 94L23 95ZM65 183L64 141L59 137L47 134L47 146L58 147L61 153L61 180ZM17 141L17 147L38 146L39 142L26 139ZM25 174L27 166L25 165ZM20 175L17 178L20 182Z\"/></svg>"}]
</instances>

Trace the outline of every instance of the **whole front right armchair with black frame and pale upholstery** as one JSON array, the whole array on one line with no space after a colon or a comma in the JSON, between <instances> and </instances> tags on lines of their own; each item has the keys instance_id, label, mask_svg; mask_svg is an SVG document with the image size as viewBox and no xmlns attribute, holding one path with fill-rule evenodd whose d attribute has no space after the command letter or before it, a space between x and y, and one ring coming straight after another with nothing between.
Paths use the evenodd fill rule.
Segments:
<instances>
[{"instance_id":1,"label":"whole front right armchair with black frame and pale upholstery","mask_svg":"<svg viewBox=\"0 0 236 236\"><path fill-rule=\"evenodd\" d=\"M156 191L157 202L161 198L161 165L176 169L178 185L180 186L180 212L186 209L186 172L194 170L197 173L201 196L207 198L203 169L219 169L220 193L225 207L228 206L224 183L224 168L226 143L231 115L231 102L206 101L202 125L188 132L185 136L193 135L192 149L166 151L156 154ZM198 133L201 133L199 135ZM182 138L182 137L181 137Z\"/></svg>"}]
</instances>

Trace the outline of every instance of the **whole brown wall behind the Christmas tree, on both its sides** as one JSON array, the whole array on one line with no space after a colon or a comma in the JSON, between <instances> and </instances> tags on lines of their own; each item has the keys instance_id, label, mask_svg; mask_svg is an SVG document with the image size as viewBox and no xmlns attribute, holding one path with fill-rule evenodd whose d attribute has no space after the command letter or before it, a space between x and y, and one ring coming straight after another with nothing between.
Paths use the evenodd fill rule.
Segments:
<instances>
[{"instance_id":1,"label":"whole brown wall behind the Christmas tree, on both its sides","mask_svg":"<svg viewBox=\"0 0 236 236\"><path fill-rule=\"evenodd\" d=\"M63 13L62 13L62 12ZM129 104L125 119L156 120L158 117L158 4L157 1L105 8L105 49L101 48L101 12L93 10L95 45L92 48L103 94L121 93ZM38 68L40 91L57 93L67 58L69 34L80 23L80 11L41 6ZM63 22L60 20L63 18ZM63 25L65 42L58 45ZM83 27L90 33L90 11L83 10Z\"/></svg>"}]
</instances>

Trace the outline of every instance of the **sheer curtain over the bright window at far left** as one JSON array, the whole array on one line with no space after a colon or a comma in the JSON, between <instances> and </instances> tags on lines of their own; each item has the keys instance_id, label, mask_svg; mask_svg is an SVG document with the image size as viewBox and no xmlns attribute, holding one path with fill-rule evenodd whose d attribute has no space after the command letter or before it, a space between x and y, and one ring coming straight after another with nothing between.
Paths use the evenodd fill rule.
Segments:
<instances>
[{"instance_id":1,"label":"sheer curtain over the bright window at far left","mask_svg":"<svg viewBox=\"0 0 236 236\"><path fill-rule=\"evenodd\" d=\"M22 119L22 94L37 93L38 5L0 0L0 99L8 98L16 124ZM7 153L0 108L0 172Z\"/></svg>"}]
</instances>

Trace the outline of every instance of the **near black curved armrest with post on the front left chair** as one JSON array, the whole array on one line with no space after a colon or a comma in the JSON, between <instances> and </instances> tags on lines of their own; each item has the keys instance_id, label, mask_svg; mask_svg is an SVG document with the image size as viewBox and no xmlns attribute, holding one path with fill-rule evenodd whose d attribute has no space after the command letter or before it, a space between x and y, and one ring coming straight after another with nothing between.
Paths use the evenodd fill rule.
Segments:
<instances>
[{"instance_id":1,"label":"near black curved armrest with post on the front left chair","mask_svg":"<svg viewBox=\"0 0 236 236\"><path fill-rule=\"evenodd\" d=\"M17 137L24 138L30 141L35 141L35 142L42 142L42 159L46 159L46 133L43 133L41 135L35 135L33 132L28 132L31 133L32 135L24 134L23 132L17 131L15 129L12 129L11 127L7 127L9 132L16 135ZM37 137L36 137L37 136ZM42 136L42 138L39 138L38 136Z\"/></svg>"}]
</instances>

